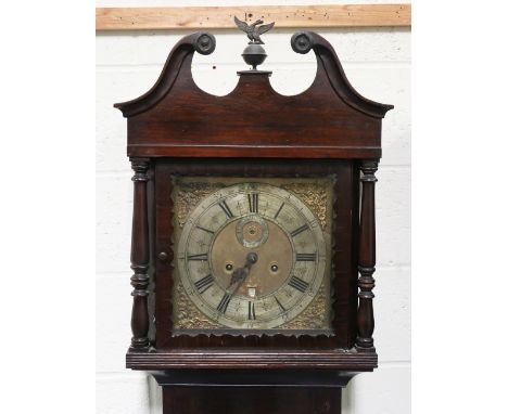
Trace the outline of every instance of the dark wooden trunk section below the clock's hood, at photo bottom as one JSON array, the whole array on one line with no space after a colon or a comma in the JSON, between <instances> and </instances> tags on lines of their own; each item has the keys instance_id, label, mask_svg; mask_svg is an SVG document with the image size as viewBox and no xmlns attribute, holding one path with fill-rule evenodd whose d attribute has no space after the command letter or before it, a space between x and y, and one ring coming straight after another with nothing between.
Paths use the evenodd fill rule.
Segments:
<instances>
[{"instance_id":1,"label":"dark wooden trunk section below the clock's hood, at photo bottom","mask_svg":"<svg viewBox=\"0 0 508 414\"><path fill-rule=\"evenodd\" d=\"M351 378L317 370L172 370L155 374L167 414L340 414L342 388Z\"/></svg>"}]
</instances>

